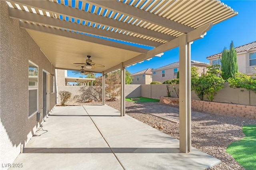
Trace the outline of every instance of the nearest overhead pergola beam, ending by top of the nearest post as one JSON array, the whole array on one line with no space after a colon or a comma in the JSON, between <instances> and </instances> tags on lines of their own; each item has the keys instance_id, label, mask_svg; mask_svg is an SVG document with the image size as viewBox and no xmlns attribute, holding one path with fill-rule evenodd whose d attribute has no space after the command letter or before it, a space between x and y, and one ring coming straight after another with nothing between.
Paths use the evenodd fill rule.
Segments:
<instances>
[{"instance_id":1,"label":"nearest overhead pergola beam, ending by top of the nearest post","mask_svg":"<svg viewBox=\"0 0 256 170\"><path fill-rule=\"evenodd\" d=\"M83 0L82 0L83 1ZM89 2L90 4L94 4L96 6L105 7L108 9L111 9L114 12L119 12L120 14L125 14L128 16L132 16L134 18L137 18L139 20L143 20L152 24L156 24L158 26L162 26L165 28L169 28L172 30L176 30L178 32L188 33L194 28L191 28L189 26L186 26L184 24L180 24L178 22L175 22L173 20L169 20L167 18L164 18L162 16L155 15L153 13L141 10L139 8L134 8L134 6L130 6L128 4L125 4L123 2L119 1L108 1L108 0L84 0Z\"/></svg>"}]
</instances>

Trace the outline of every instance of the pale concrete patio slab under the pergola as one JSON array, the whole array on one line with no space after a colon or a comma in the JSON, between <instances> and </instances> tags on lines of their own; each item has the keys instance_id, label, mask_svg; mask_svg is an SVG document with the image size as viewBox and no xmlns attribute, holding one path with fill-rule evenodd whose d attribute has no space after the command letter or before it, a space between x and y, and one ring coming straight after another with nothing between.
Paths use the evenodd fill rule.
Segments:
<instances>
[{"instance_id":1,"label":"pale concrete patio slab under the pergola","mask_svg":"<svg viewBox=\"0 0 256 170\"><path fill-rule=\"evenodd\" d=\"M20 169L203 170L220 163L195 148L182 153L175 138L107 105L55 107L43 128L14 161Z\"/></svg>"}]
</instances>

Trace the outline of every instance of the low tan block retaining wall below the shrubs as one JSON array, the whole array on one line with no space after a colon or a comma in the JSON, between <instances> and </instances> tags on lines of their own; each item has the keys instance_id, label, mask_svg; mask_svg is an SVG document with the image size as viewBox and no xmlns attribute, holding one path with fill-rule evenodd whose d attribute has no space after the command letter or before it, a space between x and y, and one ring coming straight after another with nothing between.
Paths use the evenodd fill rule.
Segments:
<instances>
[{"instance_id":1,"label":"low tan block retaining wall below the shrubs","mask_svg":"<svg viewBox=\"0 0 256 170\"><path fill-rule=\"evenodd\" d=\"M179 105L179 98L161 96L160 103L168 105ZM256 106L218 103L193 99L191 100L191 108L198 111L205 111L220 115L256 119Z\"/></svg>"}]
</instances>

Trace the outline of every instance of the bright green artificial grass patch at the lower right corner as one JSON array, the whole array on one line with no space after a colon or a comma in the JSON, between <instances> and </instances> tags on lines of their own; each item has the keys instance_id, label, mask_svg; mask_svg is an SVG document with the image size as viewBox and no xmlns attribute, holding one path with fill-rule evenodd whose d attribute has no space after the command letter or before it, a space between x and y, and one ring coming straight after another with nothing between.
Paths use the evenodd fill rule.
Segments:
<instances>
[{"instance_id":1,"label":"bright green artificial grass patch at the lower right corner","mask_svg":"<svg viewBox=\"0 0 256 170\"><path fill-rule=\"evenodd\" d=\"M256 125L244 125L246 137L231 143L226 152L246 170L256 170Z\"/></svg>"}]
</instances>

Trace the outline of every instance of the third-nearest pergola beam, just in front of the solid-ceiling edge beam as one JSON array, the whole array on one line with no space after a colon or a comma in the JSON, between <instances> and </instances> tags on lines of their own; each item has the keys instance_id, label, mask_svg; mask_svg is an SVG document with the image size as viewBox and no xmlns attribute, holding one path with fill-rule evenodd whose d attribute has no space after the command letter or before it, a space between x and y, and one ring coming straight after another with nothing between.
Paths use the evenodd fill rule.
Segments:
<instances>
[{"instance_id":1,"label":"third-nearest pergola beam, just in front of the solid-ceiling edge beam","mask_svg":"<svg viewBox=\"0 0 256 170\"><path fill-rule=\"evenodd\" d=\"M11 18L15 18L15 19L19 19L19 20L39 23L42 25L53 26L53 27L57 27L57 28L64 28L67 30L74 30L77 32L83 32L83 33L88 33L88 34L97 35L97 36L103 36L103 37L107 37L107 38L113 38L116 40L123 40L126 42L134 42L134 43L139 43L139 44L149 45L149 46L158 46L158 45L162 44L159 42L154 42L154 41L146 40L143 38L137 38L134 36L128 36L125 34L110 32L107 30L97 29L97 28L93 28L90 26L84 26L82 24L75 24L73 22L67 22L64 20L59 20L57 18L51 18L48 16L38 15L38 14L34 14L32 12L16 10L14 8L9 8L9 16Z\"/></svg>"}]
</instances>

